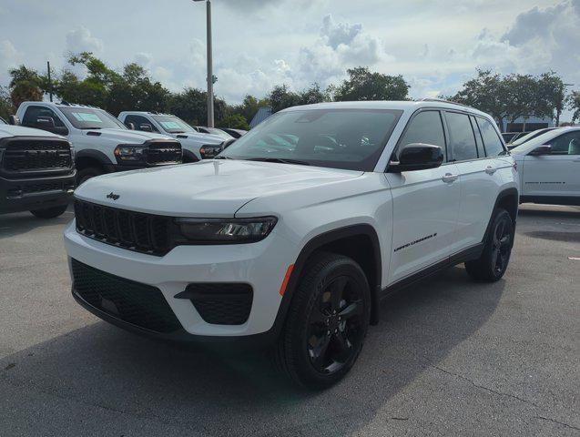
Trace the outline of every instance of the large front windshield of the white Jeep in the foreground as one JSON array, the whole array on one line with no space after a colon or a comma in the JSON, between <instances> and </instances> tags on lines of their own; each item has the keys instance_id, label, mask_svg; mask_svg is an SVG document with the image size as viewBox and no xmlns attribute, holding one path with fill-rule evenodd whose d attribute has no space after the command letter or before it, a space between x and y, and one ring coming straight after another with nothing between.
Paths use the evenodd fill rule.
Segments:
<instances>
[{"instance_id":1,"label":"large front windshield of the white Jeep in the foreground","mask_svg":"<svg viewBox=\"0 0 580 437\"><path fill-rule=\"evenodd\" d=\"M402 111L310 109L275 114L219 154L372 171Z\"/></svg>"}]
</instances>

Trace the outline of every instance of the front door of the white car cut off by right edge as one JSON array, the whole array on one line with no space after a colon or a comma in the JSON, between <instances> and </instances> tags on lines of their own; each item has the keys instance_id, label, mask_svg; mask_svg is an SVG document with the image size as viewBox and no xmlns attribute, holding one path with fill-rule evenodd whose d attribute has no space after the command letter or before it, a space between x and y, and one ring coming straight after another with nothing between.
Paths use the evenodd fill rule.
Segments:
<instances>
[{"instance_id":1,"label":"front door of the white car cut off by right edge","mask_svg":"<svg viewBox=\"0 0 580 437\"><path fill-rule=\"evenodd\" d=\"M580 130L566 132L548 144L547 155L524 158L522 194L532 197L580 197Z\"/></svg>"}]
</instances>

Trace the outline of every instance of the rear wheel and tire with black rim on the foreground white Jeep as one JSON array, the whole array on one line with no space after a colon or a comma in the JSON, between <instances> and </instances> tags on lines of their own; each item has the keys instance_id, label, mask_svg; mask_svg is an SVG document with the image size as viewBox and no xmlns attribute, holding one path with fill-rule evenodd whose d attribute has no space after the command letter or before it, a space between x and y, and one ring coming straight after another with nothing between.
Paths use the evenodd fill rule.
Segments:
<instances>
[{"instance_id":1,"label":"rear wheel and tire with black rim on the foreground white Jeep","mask_svg":"<svg viewBox=\"0 0 580 437\"><path fill-rule=\"evenodd\" d=\"M465 270L475 280L495 282L504 276L513 246L512 217L504 208L497 208L481 257L465 262Z\"/></svg>"}]
</instances>

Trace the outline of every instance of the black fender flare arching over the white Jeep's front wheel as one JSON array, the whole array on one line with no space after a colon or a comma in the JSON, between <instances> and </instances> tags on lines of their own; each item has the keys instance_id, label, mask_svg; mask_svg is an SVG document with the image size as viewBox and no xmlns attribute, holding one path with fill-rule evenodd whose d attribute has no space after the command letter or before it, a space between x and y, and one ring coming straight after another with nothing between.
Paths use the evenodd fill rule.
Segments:
<instances>
[{"instance_id":1,"label":"black fender flare arching over the white Jeep's front wheel","mask_svg":"<svg viewBox=\"0 0 580 437\"><path fill-rule=\"evenodd\" d=\"M275 331L276 337L280 334L283 329L286 315L290 309L290 303L294 292L298 288L300 281L300 275L306 261L310 258L317 249L340 239L354 237L356 235L364 235L371 239L372 251L374 255L374 286L371 287L371 324L376 324L379 321L379 300L382 290L382 255L381 255L381 245L379 243L379 236L376 230L369 224L357 224L349 225L343 228L332 229L327 232L323 232L312 239L310 239L304 247L300 250L300 254L296 261L294 262L294 268L290 274L290 279L286 286L284 296L280 302L280 307L278 309L278 314L276 315L276 320L274 321L273 330Z\"/></svg>"}]
</instances>

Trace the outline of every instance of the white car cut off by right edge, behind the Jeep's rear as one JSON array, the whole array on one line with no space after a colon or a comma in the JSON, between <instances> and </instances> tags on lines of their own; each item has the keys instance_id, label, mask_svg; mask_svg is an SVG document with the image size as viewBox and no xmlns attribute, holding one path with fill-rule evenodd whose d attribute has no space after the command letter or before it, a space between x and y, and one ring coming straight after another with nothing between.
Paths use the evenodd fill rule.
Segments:
<instances>
[{"instance_id":1,"label":"white car cut off by right edge, behind the Jeep's rear","mask_svg":"<svg viewBox=\"0 0 580 437\"><path fill-rule=\"evenodd\" d=\"M559 127L511 150L522 202L580 205L580 127Z\"/></svg>"}]
</instances>

